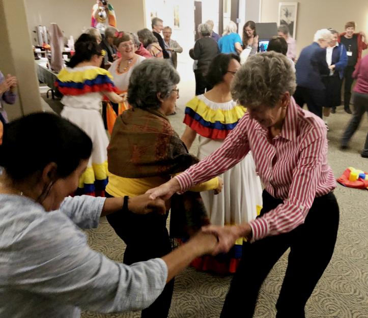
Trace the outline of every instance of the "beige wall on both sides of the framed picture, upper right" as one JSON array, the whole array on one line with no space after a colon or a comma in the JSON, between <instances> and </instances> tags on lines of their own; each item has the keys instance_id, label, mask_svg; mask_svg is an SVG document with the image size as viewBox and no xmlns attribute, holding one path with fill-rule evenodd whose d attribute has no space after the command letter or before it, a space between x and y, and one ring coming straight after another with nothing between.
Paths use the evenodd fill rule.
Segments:
<instances>
[{"instance_id":1,"label":"beige wall on both sides of the framed picture, upper right","mask_svg":"<svg viewBox=\"0 0 368 318\"><path fill-rule=\"evenodd\" d=\"M262 0L261 22L277 22L278 0ZM299 0L296 28L298 54L312 43L315 32L324 27L344 31L347 21L357 23L357 31L368 34L367 0ZM365 50L363 54L367 54Z\"/></svg>"}]
</instances>

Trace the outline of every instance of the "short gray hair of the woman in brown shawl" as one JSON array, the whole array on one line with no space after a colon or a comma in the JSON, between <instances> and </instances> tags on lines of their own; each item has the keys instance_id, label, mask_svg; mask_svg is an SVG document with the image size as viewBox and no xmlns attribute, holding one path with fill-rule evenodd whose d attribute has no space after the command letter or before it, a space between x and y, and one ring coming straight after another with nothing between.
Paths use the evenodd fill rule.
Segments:
<instances>
[{"instance_id":1,"label":"short gray hair of the woman in brown shawl","mask_svg":"<svg viewBox=\"0 0 368 318\"><path fill-rule=\"evenodd\" d=\"M158 109L157 94L162 99L168 98L179 81L179 73L166 60L144 60L130 75L128 102L133 108Z\"/></svg>"}]
</instances>

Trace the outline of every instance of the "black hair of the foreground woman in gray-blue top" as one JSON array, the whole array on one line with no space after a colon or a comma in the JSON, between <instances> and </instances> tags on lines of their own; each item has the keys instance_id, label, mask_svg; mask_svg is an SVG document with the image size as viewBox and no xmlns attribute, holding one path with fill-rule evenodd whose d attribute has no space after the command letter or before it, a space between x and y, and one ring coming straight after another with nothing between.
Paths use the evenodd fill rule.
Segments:
<instances>
[{"instance_id":1,"label":"black hair of the foreground woman in gray-blue top","mask_svg":"<svg viewBox=\"0 0 368 318\"><path fill-rule=\"evenodd\" d=\"M39 112L4 126L0 166L13 181L22 181L57 164L59 178L68 177L92 152L92 140L59 115Z\"/></svg>"}]
</instances>

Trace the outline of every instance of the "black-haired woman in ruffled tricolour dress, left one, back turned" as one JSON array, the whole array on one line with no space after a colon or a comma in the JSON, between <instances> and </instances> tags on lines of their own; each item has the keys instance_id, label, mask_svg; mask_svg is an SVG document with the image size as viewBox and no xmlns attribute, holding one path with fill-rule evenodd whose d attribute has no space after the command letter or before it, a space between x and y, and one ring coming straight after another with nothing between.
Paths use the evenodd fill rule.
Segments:
<instances>
[{"instance_id":1,"label":"black-haired woman in ruffled tricolour dress, left one, back turned","mask_svg":"<svg viewBox=\"0 0 368 318\"><path fill-rule=\"evenodd\" d=\"M93 142L92 155L79 180L77 193L104 196L107 184L108 138L101 117L103 96L123 102L111 74L100 68L105 51L95 38L82 34L75 42L75 54L61 70L56 86L64 95L61 115L84 130Z\"/></svg>"}]
</instances>

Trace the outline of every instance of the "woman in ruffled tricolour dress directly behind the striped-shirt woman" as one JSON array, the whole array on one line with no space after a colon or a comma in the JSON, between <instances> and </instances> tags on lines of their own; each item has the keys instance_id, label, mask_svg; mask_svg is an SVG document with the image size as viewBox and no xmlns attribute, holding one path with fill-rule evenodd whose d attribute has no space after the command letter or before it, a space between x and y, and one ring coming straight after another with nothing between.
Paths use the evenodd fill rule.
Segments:
<instances>
[{"instance_id":1,"label":"woman in ruffled tricolour dress directly behind the striped-shirt woman","mask_svg":"<svg viewBox=\"0 0 368 318\"><path fill-rule=\"evenodd\" d=\"M246 108L233 100L230 92L230 85L240 68L239 60L236 54L218 54L210 64L207 75L213 89L194 97L186 105L184 123L187 127L181 139L189 150L196 135L199 135L197 157L200 160L221 147L246 112ZM248 154L219 177L223 179L221 193L201 192L211 224L240 224L256 218L262 208L262 188L252 155ZM198 260L196 267L219 273L235 273L242 244L243 240L238 240L229 257L205 256Z\"/></svg>"}]
</instances>

